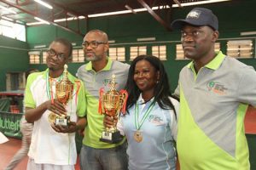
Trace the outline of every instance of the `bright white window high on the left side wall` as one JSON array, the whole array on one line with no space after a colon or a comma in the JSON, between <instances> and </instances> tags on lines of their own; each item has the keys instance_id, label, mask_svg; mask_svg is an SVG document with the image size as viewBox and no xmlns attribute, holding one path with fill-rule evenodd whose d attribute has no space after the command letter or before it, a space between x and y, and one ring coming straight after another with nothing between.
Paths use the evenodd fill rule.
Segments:
<instances>
[{"instance_id":1,"label":"bright white window high on the left side wall","mask_svg":"<svg viewBox=\"0 0 256 170\"><path fill-rule=\"evenodd\" d=\"M25 26L8 20L0 20L0 34L5 37L16 38L20 41L26 42Z\"/></svg>"}]
</instances>

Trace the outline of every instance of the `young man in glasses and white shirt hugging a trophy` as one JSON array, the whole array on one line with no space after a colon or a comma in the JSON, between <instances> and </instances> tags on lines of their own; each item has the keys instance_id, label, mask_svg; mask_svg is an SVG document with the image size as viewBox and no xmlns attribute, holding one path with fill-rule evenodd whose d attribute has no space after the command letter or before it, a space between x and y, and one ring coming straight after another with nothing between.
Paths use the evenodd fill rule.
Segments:
<instances>
[{"instance_id":1,"label":"young man in glasses and white shirt hugging a trophy","mask_svg":"<svg viewBox=\"0 0 256 170\"><path fill-rule=\"evenodd\" d=\"M24 105L27 122L34 124L27 170L73 170L77 161L75 132L85 126L84 83L67 74L73 83L73 97L62 105L55 99L55 85L64 77L64 65L71 59L72 44L57 38L49 45L48 69L27 77ZM67 112L66 112L67 111ZM67 114L67 126L49 122L49 114Z\"/></svg>"}]
</instances>

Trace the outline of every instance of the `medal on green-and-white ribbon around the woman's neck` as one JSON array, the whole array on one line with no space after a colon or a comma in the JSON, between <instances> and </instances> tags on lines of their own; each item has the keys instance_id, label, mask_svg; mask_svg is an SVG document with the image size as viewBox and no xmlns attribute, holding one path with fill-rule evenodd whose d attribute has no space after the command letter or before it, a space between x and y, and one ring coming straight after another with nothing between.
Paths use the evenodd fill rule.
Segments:
<instances>
[{"instance_id":1,"label":"medal on green-and-white ribbon around the woman's neck","mask_svg":"<svg viewBox=\"0 0 256 170\"><path fill-rule=\"evenodd\" d=\"M143 126L143 122L146 120L148 117L150 111L152 111L154 107L154 101L149 105L148 110L143 116L143 119L139 122L138 121L138 103L136 103L136 108L135 108L135 127L137 128L137 131L133 134L133 139L137 141L137 143L140 143L143 141L143 133L140 131L140 128Z\"/></svg>"}]
</instances>

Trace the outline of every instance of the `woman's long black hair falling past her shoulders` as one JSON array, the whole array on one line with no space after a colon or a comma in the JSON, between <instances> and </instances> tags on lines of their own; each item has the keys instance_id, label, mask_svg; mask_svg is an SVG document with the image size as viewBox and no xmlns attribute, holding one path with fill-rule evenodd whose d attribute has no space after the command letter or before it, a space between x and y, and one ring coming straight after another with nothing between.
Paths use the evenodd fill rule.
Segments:
<instances>
[{"instance_id":1,"label":"woman's long black hair falling past her shoulders","mask_svg":"<svg viewBox=\"0 0 256 170\"><path fill-rule=\"evenodd\" d=\"M125 86L125 89L128 92L127 110L131 108L132 105L136 104L137 99L141 94L141 91L137 87L136 82L134 82L133 77L137 62L143 59L147 60L150 65L154 66L155 71L159 71L160 73L159 82L154 87L154 102L157 102L162 109L172 109L176 115L176 111L174 106L172 105L172 101L169 99L169 97L172 97L172 94L170 91L165 67L160 59L153 55L139 55L131 62L128 79Z\"/></svg>"}]
</instances>

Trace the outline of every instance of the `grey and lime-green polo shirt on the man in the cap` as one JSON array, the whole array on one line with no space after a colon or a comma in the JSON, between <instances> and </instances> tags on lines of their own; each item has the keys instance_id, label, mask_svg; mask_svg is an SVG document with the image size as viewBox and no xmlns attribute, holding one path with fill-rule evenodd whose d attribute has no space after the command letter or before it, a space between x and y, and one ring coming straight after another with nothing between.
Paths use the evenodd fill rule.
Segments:
<instances>
[{"instance_id":1,"label":"grey and lime-green polo shirt on the man in the cap","mask_svg":"<svg viewBox=\"0 0 256 170\"><path fill-rule=\"evenodd\" d=\"M248 170L244 116L256 105L256 72L219 52L195 73L193 62L179 75L177 153L184 170Z\"/></svg>"}]
</instances>

